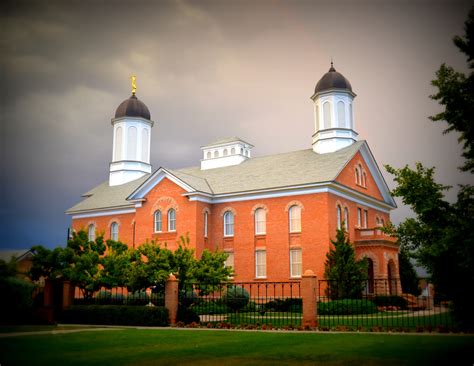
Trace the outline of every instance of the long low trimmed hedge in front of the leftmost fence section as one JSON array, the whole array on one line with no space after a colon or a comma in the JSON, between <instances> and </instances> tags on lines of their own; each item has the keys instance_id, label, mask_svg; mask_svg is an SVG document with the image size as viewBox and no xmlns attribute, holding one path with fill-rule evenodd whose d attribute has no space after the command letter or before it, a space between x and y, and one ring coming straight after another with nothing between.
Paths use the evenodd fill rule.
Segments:
<instances>
[{"instance_id":1,"label":"long low trimmed hedge in front of the leftmost fence section","mask_svg":"<svg viewBox=\"0 0 474 366\"><path fill-rule=\"evenodd\" d=\"M169 325L168 310L161 306L73 305L60 319L74 324Z\"/></svg>"}]
</instances>

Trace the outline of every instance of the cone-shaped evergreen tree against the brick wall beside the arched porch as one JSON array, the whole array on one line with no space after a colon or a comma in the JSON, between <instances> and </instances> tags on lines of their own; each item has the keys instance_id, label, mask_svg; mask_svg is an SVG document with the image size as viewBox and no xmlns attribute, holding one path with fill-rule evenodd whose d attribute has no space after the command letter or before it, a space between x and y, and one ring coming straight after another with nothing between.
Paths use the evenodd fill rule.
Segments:
<instances>
[{"instance_id":1,"label":"cone-shaped evergreen tree against the brick wall beside the arched porch","mask_svg":"<svg viewBox=\"0 0 474 366\"><path fill-rule=\"evenodd\" d=\"M326 254L324 278L328 281L327 295L331 300L358 299L367 280L367 261L356 260L352 244L344 228L337 230L336 240Z\"/></svg>"}]
</instances>

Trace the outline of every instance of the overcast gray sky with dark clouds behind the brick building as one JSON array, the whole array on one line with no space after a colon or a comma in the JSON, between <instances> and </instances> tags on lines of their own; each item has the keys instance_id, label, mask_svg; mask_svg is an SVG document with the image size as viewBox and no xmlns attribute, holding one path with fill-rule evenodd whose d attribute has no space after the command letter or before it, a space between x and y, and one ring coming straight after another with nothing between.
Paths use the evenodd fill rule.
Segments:
<instances>
[{"instance_id":1,"label":"overcast gray sky with dark clouds behind the brick building","mask_svg":"<svg viewBox=\"0 0 474 366\"><path fill-rule=\"evenodd\" d=\"M0 248L65 244L64 211L108 179L131 74L155 121L154 170L198 165L227 136L253 156L310 148L310 96L332 57L382 170L421 161L444 184L472 180L457 136L428 120L440 64L466 71L452 37L472 1L2 3ZM395 223L410 214L399 206Z\"/></svg>"}]
</instances>

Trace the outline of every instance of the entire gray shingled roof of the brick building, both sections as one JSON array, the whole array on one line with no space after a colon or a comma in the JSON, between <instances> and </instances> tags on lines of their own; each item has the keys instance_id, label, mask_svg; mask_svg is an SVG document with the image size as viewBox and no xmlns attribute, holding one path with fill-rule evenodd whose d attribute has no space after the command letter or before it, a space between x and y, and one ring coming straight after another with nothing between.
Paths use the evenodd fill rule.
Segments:
<instances>
[{"instance_id":1,"label":"entire gray shingled roof of the brick building, both sections","mask_svg":"<svg viewBox=\"0 0 474 366\"><path fill-rule=\"evenodd\" d=\"M334 153L317 154L312 149L248 159L239 165L201 170L192 167L166 169L194 190L208 194L251 192L272 188L285 188L336 179L349 160L365 141L359 141ZM66 213L104 208L133 207L126 198L150 177L109 186L108 181L90 190L86 198Z\"/></svg>"}]
</instances>

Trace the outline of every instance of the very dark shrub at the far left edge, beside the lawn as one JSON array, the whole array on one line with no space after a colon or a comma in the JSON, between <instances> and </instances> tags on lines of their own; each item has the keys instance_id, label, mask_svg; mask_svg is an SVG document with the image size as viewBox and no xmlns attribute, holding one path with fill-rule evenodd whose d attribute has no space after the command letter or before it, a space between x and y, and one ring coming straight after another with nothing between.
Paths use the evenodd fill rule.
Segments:
<instances>
[{"instance_id":1,"label":"very dark shrub at the far left edge, beside the lawn","mask_svg":"<svg viewBox=\"0 0 474 366\"><path fill-rule=\"evenodd\" d=\"M16 277L0 279L0 323L21 324L31 321L32 293L35 285Z\"/></svg>"}]
</instances>

